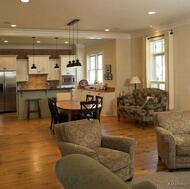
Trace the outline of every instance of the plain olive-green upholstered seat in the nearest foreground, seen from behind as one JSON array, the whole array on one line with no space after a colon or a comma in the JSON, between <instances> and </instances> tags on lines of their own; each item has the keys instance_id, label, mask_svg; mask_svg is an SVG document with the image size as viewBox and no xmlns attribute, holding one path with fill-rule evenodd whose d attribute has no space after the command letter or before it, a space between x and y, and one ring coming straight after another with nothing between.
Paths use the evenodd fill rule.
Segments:
<instances>
[{"instance_id":1,"label":"plain olive-green upholstered seat in the nearest foreground, seen from behind","mask_svg":"<svg viewBox=\"0 0 190 189\"><path fill-rule=\"evenodd\" d=\"M58 160L55 173L65 189L156 189L142 181L128 185L96 160L81 154L71 154Z\"/></svg>"}]
</instances>

